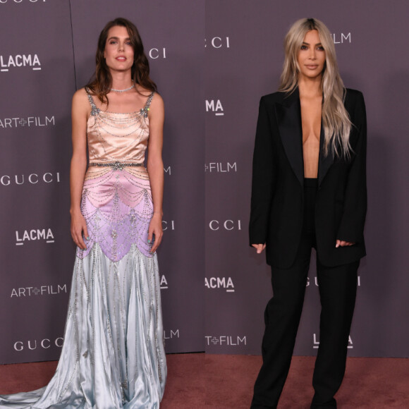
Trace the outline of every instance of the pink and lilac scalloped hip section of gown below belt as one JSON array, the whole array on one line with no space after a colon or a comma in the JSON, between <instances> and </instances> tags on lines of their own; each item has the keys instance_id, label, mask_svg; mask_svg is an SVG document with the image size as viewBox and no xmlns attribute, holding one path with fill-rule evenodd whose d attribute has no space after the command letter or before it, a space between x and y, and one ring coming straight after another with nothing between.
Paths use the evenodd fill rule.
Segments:
<instances>
[{"instance_id":1,"label":"pink and lilac scalloped hip section of gown below belt","mask_svg":"<svg viewBox=\"0 0 409 409\"><path fill-rule=\"evenodd\" d=\"M147 243L153 213L149 180L135 178L127 168L112 169L86 180L81 212L90 240L86 250L78 248L78 257L85 257L94 243L114 262L121 260L132 244L146 257L152 257L152 245Z\"/></svg>"}]
</instances>

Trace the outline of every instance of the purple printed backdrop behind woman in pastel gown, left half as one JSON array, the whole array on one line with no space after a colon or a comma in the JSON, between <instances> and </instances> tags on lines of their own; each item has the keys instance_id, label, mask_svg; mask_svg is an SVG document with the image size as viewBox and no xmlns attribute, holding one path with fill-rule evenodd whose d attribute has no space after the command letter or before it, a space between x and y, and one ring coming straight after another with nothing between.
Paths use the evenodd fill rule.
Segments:
<instances>
[{"instance_id":1,"label":"purple printed backdrop behind woman in pastel gown, left half","mask_svg":"<svg viewBox=\"0 0 409 409\"><path fill-rule=\"evenodd\" d=\"M166 104L166 351L204 350L204 4L1 0L0 363L59 358L75 253L71 97L92 75L99 32L118 16L138 26Z\"/></svg>"}]
</instances>

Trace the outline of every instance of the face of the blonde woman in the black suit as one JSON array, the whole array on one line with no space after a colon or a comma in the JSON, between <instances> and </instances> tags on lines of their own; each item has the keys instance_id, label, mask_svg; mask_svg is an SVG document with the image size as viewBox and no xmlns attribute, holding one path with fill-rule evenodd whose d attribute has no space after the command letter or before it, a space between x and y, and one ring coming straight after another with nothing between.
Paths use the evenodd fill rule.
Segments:
<instances>
[{"instance_id":1,"label":"face of the blonde woman in the black suit","mask_svg":"<svg viewBox=\"0 0 409 409\"><path fill-rule=\"evenodd\" d=\"M297 61L300 67L300 78L314 79L322 75L325 50L317 30L310 30L305 35L303 44L298 50Z\"/></svg>"}]
</instances>

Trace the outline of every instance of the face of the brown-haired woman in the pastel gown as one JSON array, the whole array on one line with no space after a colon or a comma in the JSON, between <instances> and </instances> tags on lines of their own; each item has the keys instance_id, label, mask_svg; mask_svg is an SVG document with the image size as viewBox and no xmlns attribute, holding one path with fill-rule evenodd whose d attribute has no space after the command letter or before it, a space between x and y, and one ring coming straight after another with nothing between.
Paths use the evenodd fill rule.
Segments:
<instances>
[{"instance_id":1,"label":"face of the brown-haired woman in the pastel gown","mask_svg":"<svg viewBox=\"0 0 409 409\"><path fill-rule=\"evenodd\" d=\"M116 25L109 29L104 49L106 65L111 71L128 71L133 66L133 47L128 30Z\"/></svg>"}]
</instances>

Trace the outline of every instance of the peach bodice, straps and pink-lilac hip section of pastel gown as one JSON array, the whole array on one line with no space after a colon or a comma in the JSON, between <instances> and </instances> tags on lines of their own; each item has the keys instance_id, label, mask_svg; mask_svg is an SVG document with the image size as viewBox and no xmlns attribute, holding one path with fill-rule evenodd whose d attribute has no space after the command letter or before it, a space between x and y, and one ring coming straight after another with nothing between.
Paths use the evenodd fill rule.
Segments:
<instances>
[{"instance_id":1,"label":"peach bodice, straps and pink-lilac hip section of pastel gown","mask_svg":"<svg viewBox=\"0 0 409 409\"><path fill-rule=\"evenodd\" d=\"M140 111L115 114L98 109L90 90L85 90L93 123L89 124L90 168L83 185L81 211L90 240L86 250L77 250L77 256L86 257L98 243L114 262L121 260L133 244L143 255L152 257L152 244L147 243L152 194L143 161L149 138L147 110L154 93ZM138 149L133 149L136 146Z\"/></svg>"}]
</instances>

